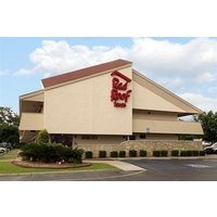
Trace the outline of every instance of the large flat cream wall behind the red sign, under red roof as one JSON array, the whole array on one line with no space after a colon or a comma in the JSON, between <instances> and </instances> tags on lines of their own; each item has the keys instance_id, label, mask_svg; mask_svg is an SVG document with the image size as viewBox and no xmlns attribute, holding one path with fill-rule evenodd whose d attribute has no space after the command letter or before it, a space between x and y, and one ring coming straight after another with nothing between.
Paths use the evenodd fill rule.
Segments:
<instances>
[{"instance_id":1,"label":"large flat cream wall behind the red sign, under red roof","mask_svg":"<svg viewBox=\"0 0 217 217\"><path fill-rule=\"evenodd\" d=\"M131 67L118 72L131 78ZM111 73L46 90L44 127L49 133L131 135L132 94L126 107L115 107Z\"/></svg>"}]
</instances>

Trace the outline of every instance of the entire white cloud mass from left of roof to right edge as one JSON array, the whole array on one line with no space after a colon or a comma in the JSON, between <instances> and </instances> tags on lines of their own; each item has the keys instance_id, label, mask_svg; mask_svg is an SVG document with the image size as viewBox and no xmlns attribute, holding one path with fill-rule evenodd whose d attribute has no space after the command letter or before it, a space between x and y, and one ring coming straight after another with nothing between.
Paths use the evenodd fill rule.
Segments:
<instances>
[{"instance_id":1,"label":"entire white cloud mass from left of roof to right edge","mask_svg":"<svg viewBox=\"0 0 217 217\"><path fill-rule=\"evenodd\" d=\"M43 40L41 47L29 55L31 67L21 68L14 75L41 74L49 77L125 59L133 62L138 72L176 94L183 94L199 107L216 106L217 39L194 38L186 43L152 38L131 40L128 48L71 46L64 40Z\"/></svg>"}]
</instances>

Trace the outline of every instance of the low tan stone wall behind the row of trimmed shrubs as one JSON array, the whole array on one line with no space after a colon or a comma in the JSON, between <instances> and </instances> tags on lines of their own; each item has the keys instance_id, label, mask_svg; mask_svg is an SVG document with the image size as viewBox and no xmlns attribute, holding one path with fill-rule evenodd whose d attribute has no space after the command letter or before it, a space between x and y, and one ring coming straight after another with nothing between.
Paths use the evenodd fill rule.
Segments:
<instances>
[{"instance_id":1,"label":"low tan stone wall behind the row of trimmed shrubs","mask_svg":"<svg viewBox=\"0 0 217 217\"><path fill-rule=\"evenodd\" d=\"M89 144L81 145L78 144L79 149L85 151L92 151L93 157L99 156L99 151L106 151L107 156L112 151L126 151L126 156L129 156L129 150L146 150L148 155L152 156L154 150L167 150L168 156L171 155L171 150L203 150L201 141L125 141L119 144Z\"/></svg>"}]
</instances>

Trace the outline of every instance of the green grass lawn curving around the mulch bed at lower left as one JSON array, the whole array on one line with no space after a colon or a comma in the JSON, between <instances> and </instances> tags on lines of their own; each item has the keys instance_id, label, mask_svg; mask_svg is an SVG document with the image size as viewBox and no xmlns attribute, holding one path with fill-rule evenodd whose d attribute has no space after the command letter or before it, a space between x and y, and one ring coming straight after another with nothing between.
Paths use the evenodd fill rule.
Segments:
<instances>
[{"instance_id":1,"label":"green grass lawn curving around the mulch bed at lower left","mask_svg":"<svg viewBox=\"0 0 217 217\"><path fill-rule=\"evenodd\" d=\"M104 163L92 163L90 166L80 168L23 168L15 166L12 162L16 158L18 150L12 150L0 157L0 175L2 174L25 174L25 173L56 173L56 171L76 171L76 170L97 170L97 169L116 169L116 167Z\"/></svg>"}]
</instances>

